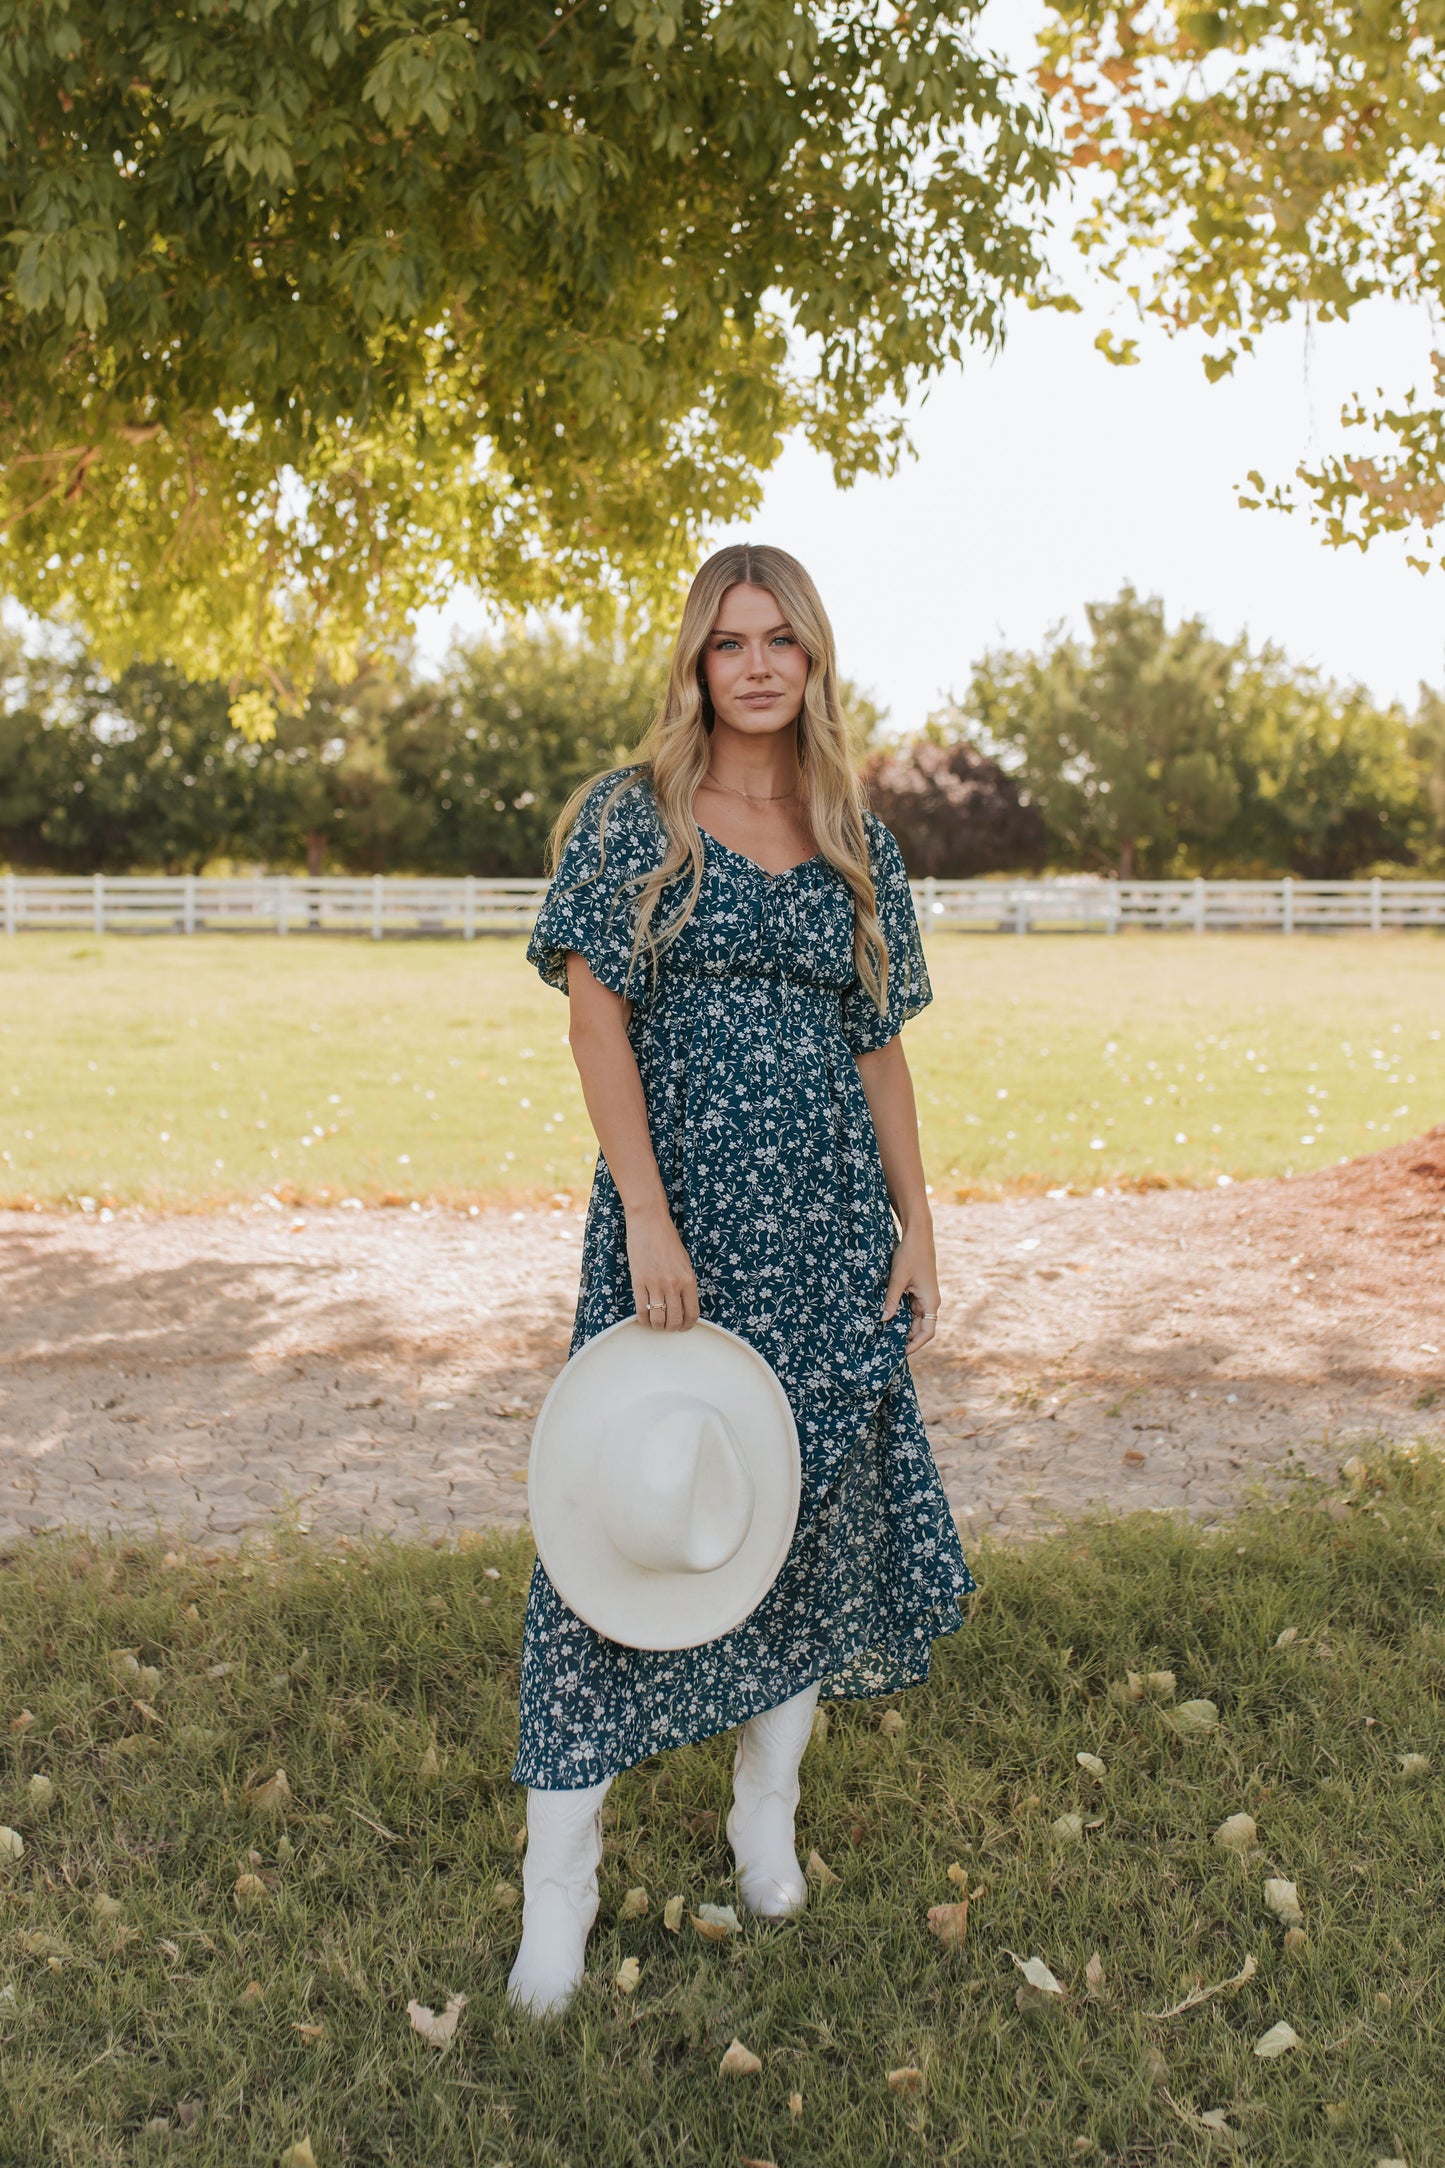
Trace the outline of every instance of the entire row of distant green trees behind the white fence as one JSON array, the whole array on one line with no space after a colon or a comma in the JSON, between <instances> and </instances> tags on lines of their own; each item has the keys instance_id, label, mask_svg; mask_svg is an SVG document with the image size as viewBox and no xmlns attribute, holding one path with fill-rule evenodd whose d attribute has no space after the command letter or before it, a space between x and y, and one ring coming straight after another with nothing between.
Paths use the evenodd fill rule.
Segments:
<instances>
[{"instance_id":1,"label":"entire row of distant green trees behind the white fence","mask_svg":"<svg viewBox=\"0 0 1445 2168\"><path fill-rule=\"evenodd\" d=\"M537 874L568 791L624 761L654 653L557 627L321 683L253 741L162 663L0 655L0 859L50 872ZM910 872L1348 878L1445 872L1445 698L1415 715L1124 590L1088 637L997 648L912 741L849 687L871 802Z\"/></svg>"}]
</instances>

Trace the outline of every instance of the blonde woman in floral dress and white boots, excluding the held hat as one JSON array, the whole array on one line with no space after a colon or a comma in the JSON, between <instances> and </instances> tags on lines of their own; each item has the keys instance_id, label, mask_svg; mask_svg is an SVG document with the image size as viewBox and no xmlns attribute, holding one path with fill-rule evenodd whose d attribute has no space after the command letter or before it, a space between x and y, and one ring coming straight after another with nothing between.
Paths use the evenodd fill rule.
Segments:
<instances>
[{"instance_id":1,"label":"blonde woman in floral dress and white boots, excluding the held hat","mask_svg":"<svg viewBox=\"0 0 1445 2168\"><path fill-rule=\"evenodd\" d=\"M572 796L563 839L526 954L570 997L602 1147L572 1351L633 1312L659 1333L726 1325L782 1379L804 1476L778 1580L700 1648L607 1641L535 1567L509 1995L537 2014L583 1975L620 1769L739 1726L739 1893L765 1917L799 1910L793 1812L819 1693L927 1678L973 1589L908 1370L934 1338L938 1266L899 1028L932 989L899 848L849 763L832 629L793 557L708 557L639 761Z\"/></svg>"}]
</instances>

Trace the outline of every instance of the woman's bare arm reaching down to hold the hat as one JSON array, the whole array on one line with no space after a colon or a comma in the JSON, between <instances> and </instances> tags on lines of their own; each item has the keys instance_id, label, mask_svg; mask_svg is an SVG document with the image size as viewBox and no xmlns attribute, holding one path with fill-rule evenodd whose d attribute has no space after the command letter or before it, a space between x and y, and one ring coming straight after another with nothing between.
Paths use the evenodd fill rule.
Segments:
<instances>
[{"instance_id":1,"label":"woman's bare arm reaching down to hold the hat","mask_svg":"<svg viewBox=\"0 0 1445 2168\"><path fill-rule=\"evenodd\" d=\"M648 1101L626 1034L633 1004L594 978L576 950L568 950L568 995L572 1060L626 1214L637 1316L656 1331L687 1331L698 1322L698 1275L672 1223L652 1151ZM648 1309L648 1303L665 1303L667 1309Z\"/></svg>"}]
</instances>

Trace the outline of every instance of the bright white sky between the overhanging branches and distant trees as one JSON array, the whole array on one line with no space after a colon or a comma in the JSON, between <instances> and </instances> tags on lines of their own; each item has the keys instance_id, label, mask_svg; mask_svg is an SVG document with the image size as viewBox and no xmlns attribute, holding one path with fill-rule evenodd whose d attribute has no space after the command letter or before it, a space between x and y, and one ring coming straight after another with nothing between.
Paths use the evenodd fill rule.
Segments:
<instances>
[{"instance_id":1,"label":"bright white sky between the overhanging branches and distant trees","mask_svg":"<svg viewBox=\"0 0 1445 2168\"><path fill-rule=\"evenodd\" d=\"M1018 63L1036 13L1033 0L992 0L984 35ZM1445 683L1445 572L1415 572L1395 538L1367 555L1332 551L1306 514L1237 503L1250 468L1289 479L1306 453L1361 449L1339 429L1352 390L1428 382L1423 314L1371 304L1348 325L1285 325L1209 384L1202 343L1140 332L1103 282L1075 291L1083 314L1020 306L1001 353L932 384L899 473L838 490L828 462L793 442L758 514L717 535L802 557L841 668L888 711L888 735L962 694L986 648L1038 646L1055 624L1083 631L1085 603L1124 583L1161 596L1170 620L1272 640L1378 700L1413 707L1421 681ZM1137 336L1137 366L1094 349L1105 325ZM429 611L422 663L483 624L468 596Z\"/></svg>"}]
</instances>

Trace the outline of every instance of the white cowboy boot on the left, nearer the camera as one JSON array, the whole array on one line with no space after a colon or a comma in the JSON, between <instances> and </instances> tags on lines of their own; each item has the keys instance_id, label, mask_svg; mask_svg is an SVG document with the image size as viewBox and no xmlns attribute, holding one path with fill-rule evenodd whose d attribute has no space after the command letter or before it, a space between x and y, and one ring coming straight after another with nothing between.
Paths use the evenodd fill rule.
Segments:
<instances>
[{"instance_id":1,"label":"white cowboy boot on the left, nearer the camera","mask_svg":"<svg viewBox=\"0 0 1445 2168\"><path fill-rule=\"evenodd\" d=\"M522 1947L507 1979L507 2001L535 2018L557 2016L583 1977L587 1936L598 1917L602 1799L611 1778L583 1791L526 1793L522 1860Z\"/></svg>"}]
</instances>

